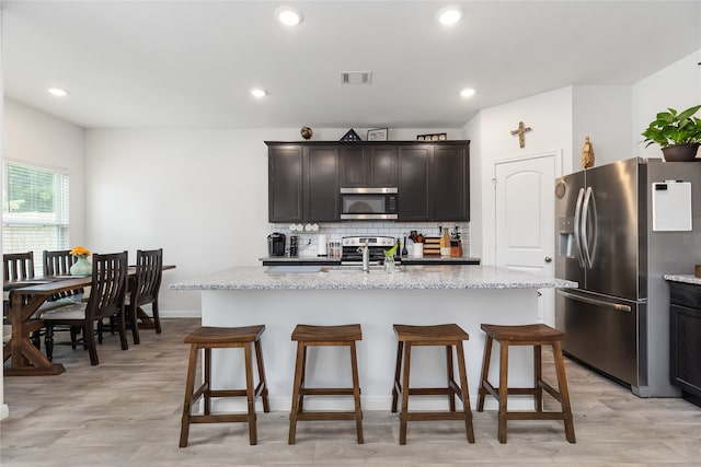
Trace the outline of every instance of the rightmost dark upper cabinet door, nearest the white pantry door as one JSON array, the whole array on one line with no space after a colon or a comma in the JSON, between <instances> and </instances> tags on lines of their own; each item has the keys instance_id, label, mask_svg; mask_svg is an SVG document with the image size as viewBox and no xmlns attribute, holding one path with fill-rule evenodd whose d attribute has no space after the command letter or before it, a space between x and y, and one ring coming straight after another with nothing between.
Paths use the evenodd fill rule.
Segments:
<instances>
[{"instance_id":1,"label":"rightmost dark upper cabinet door, nearest the white pantry door","mask_svg":"<svg viewBox=\"0 0 701 467\"><path fill-rule=\"evenodd\" d=\"M470 220L470 162L467 152L467 148L434 148L433 220Z\"/></svg>"}]
</instances>

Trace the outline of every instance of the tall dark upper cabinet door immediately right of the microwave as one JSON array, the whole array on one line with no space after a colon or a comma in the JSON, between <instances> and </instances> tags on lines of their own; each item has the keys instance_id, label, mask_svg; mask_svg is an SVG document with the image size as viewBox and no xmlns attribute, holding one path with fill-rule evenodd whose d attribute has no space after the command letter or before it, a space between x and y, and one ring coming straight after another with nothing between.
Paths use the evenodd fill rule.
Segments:
<instances>
[{"instance_id":1,"label":"tall dark upper cabinet door immediately right of the microwave","mask_svg":"<svg viewBox=\"0 0 701 467\"><path fill-rule=\"evenodd\" d=\"M430 218L429 179L432 148L399 148L399 220L427 221Z\"/></svg>"}]
</instances>

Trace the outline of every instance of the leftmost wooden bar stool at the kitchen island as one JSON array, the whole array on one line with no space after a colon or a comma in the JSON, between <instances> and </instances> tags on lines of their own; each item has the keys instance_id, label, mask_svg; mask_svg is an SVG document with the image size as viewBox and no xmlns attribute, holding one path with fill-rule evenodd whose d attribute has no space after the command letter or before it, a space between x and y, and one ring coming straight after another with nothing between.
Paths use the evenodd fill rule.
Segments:
<instances>
[{"instance_id":1,"label":"leftmost wooden bar stool at the kitchen island","mask_svg":"<svg viewBox=\"0 0 701 467\"><path fill-rule=\"evenodd\" d=\"M257 443L255 428L255 401L263 399L263 410L271 411L267 399L267 383L263 366L263 352L261 351L261 335L265 326L245 327L199 327L185 336L185 343L191 345L189 366L187 369L187 382L185 386L185 404L183 405L183 420L180 431L180 447L187 446L187 435L191 423L228 423L249 422L249 439L251 444ZM253 386L253 359L251 343L255 347L255 359L258 369L258 384ZM211 349L243 348L245 359L245 389L211 389ZM197 358L199 350L205 350L203 384L195 389L195 373L197 372ZM192 415L195 402L205 397L204 415ZM212 397L245 397L248 399L246 413L219 413L211 415Z\"/></svg>"}]
</instances>

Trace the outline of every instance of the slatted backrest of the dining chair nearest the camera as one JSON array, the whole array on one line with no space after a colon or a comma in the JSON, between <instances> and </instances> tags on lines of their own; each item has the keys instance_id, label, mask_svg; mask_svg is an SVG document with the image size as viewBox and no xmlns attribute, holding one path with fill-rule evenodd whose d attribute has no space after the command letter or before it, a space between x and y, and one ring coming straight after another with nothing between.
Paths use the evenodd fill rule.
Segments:
<instances>
[{"instance_id":1,"label":"slatted backrest of the dining chair nearest the camera","mask_svg":"<svg viewBox=\"0 0 701 467\"><path fill-rule=\"evenodd\" d=\"M127 285L127 252L93 255L92 289L85 316L95 320L124 313Z\"/></svg>"}]
</instances>

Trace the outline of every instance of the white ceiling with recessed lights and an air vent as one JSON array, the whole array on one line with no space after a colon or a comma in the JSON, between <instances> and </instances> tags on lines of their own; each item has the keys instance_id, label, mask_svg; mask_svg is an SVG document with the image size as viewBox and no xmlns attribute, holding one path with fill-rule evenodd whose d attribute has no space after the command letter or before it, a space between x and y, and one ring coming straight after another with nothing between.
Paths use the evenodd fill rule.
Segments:
<instances>
[{"instance_id":1,"label":"white ceiling with recessed lights and an air vent","mask_svg":"<svg viewBox=\"0 0 701 467\"><path fill-rule=\"evenodd\" d=\"M701 48L701 1L1 3L5 95L85 128L457 128L567 85L630 85ZM441 27L435 13L457 3L466 17ZM300 26L276 22L281 4Z\"/></svg>"}]
</instances>

